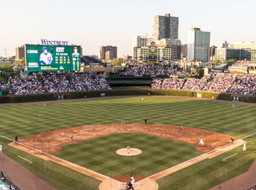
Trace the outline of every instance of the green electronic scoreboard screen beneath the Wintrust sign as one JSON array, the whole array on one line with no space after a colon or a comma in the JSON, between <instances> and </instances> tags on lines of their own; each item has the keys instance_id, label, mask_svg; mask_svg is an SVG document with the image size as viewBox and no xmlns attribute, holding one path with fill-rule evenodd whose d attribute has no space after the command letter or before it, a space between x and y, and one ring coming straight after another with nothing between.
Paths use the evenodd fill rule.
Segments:
<instances>
[{"instance_id":1,"label":"green electronic scoreboard screen beneath the Wintrust sign","mask_svg":"<svg viewBox=\"0 0 256 190\"><path fill-rule=\"evenodd\" d=\"M80 71L80 50L80 46L26 45L27 71Z\"/></svg>"}]
</instances>

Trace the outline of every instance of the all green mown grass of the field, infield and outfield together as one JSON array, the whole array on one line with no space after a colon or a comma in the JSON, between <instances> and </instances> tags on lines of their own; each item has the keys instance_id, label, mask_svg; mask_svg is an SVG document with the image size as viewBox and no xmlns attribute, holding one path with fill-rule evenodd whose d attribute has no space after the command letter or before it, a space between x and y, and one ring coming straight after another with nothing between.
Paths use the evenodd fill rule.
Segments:
<instances>
[{"instance_id":1,"label":"all green mown grass of the field, infield and outfield together","mask_svg":"<svg viewBox=\"0 0 256 190\"><path fill-rule=\"evenodd\" d=\"M125 123L143 123L145 118L149 123L196 127L238 138L256 132L256 107L236 104L236 107L232 109L231 104L231 102L145 96L144 101L141 101L141 97L133 97L55 101L47 103L46 107L43 107L43 104L1 106L0 135L14 139L15 135L22 138L47 130L120 123L122 119ZM173 166L200 154L191 145L136 134L131 138L134 139L135 146L144 153L138 155L137 158L134 157L132 161L131 158L118 159L115 150L128 143L129 135L131 134L111 135L68 145L57 155L107 176L131 172L149 176L161 171L162 168ZM150 140L146 140L147 138ZM247 171L256 155L255 136L244 140L248 142L247 151L242 152L242 147L239 147L161 178L157 181L159 189L207 189ZM99 142L102 142L102 147ZM100 181L9 147L7 145L9 141L4 138L0 137L0 143L3 144L6 155L57 189L98 189ZM150 144L152 146L149 146ZM95 147L90 149L91 145ZM166 150L166 154L162 153ZM227 162L222 161L232 153L238 154ZM28 165L25 160L17 158L17 155L34 160L34 163ZM161 155L165 155L164 158ZM128 173L123 172L121 168Z\"/></svg>"}]
</instances>

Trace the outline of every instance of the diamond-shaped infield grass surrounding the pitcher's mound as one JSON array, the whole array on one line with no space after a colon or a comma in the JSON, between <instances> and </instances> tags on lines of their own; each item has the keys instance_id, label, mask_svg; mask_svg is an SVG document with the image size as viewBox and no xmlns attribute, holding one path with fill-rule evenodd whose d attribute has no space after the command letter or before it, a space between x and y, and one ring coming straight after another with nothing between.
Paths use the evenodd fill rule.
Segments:
<instances>
[{"instance_id":1,"label":"diamond-shaped infield grass surrounding the pitcher's mound","mask_svg":"<svg viewBox=\"0 0 256 190\"><path fill-rule=\"evenodd\" d=\"M120 148L142 150L133 157L115 153ZM56 156L106 176L151 176L202 153L194 145L145 134L115 134L66 145Z\"/></svg>"}]
</instances>

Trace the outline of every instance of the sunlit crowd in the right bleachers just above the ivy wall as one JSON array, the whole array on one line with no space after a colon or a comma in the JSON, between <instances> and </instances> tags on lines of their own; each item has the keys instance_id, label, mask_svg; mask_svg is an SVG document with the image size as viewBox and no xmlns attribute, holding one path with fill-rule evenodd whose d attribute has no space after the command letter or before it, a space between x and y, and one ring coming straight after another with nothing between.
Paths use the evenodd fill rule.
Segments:
<instances>
[{"instance_id":1,"label":"sunlit crowd in the right bleachers just above the ivy wall","mask_svg":"<svg viewBox=\"0 0 256 190\"><path fill-rule=\"evenodd\" d=\"M151 88L256 95L256 76L223 73L203 78L154 78Z\"/></svg>"}]
</instances>

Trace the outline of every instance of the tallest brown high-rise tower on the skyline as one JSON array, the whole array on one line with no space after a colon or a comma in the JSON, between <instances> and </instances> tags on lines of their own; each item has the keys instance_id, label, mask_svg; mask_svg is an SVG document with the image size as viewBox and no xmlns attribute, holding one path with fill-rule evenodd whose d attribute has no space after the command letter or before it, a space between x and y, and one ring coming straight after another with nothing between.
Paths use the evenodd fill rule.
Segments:
<instances>
[{"instance_id":1,"label":"tallest brown high-rise tower on the skyline","mask_svg":"<svg viewBox=\"0 0 256 190\"><path fill-rule=\"evenodd\" d=\"M179 18L170 17L170 14L164 16L154 16L154 39L179 38Z\"/></svg>"}]
</instances>

